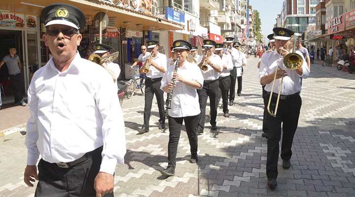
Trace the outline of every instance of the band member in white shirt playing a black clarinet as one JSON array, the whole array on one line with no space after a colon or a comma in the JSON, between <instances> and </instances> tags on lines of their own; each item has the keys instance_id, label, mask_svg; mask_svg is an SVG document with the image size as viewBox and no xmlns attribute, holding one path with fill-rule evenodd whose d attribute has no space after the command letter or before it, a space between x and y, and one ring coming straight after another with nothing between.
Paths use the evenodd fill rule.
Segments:
<instances>
[{"instance_id":1,"label":"band member in white shirt playing a black clarinet","mask_svg":"<svg viewBox=\"0 0 355 197\"><path fill-rule=\"evenodd\" d=\"M196 127L199 120L200 108L196 89L201 89L204 81L200 69L186 61L187 54L192 47L191 44L185 40L176 40L173 46L175 56L179 59L165 72L160 86L164 92L170 93L172 91L171 94L173 94L171 109L169 109L169 164L167 168L161 171L165 176L175 175L182 121L185 122L190 144L190 163L198 162Z\"/></svg>"}]
</instances>

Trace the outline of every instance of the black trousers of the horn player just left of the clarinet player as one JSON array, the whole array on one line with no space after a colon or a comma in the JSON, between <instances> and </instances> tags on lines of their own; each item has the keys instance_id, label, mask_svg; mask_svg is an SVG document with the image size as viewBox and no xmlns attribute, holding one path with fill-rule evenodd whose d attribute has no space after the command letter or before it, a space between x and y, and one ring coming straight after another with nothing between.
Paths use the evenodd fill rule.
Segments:
<instances>
[{"instance_id":1,"label":"black trousers of the horn player just left of the clarinet player","mask_svg":"<svg viewBox=\"0 0 355 197\"><path fill-rule=\"evenodd\" d=\"M143 127L149 128L150 111L153 97L157 99L159 110L159 123L165 127L165 111L164 111L164 92L160 90L160 80L152 81L149 78L145 80L145 97L144 97L144 115Z\"/></svg>"}]
</instances>

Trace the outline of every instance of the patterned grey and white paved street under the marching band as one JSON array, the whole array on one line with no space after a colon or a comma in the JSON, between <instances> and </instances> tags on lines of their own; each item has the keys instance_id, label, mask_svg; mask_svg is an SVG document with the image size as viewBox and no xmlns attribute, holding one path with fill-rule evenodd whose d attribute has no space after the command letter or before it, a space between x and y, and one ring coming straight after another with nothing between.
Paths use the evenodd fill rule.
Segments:
<instances>
[{"instance_id":1,"label":"patterned grey and white paved street under the marching band","mask_svg":"<svg viewBox=\"0 0 355 197\"><path fill-rule=\"evenodd\" d=\"M138 94L125 99L127 154L125 164L116 167L115 196L355 196L355 74L312 64L310 77L303 80L292 166L284 170L279 161L278 188L270 190L265 173L267 140L261 137L263 102L257 62L248 59L242 96L236 96L235 105L229 107L230 117L223 117L218 109L218 131L211 131L206 121L207 128L199 136L197 164L188 162L188 139L181 133L172 177L159 172L167 166L169 131L157 129L157 105L152 108L150 131L137 135L144 97ZM34 195L35 189L23 183L24 130L0 138L0 196Z\"/></svg>"}]
</instances>

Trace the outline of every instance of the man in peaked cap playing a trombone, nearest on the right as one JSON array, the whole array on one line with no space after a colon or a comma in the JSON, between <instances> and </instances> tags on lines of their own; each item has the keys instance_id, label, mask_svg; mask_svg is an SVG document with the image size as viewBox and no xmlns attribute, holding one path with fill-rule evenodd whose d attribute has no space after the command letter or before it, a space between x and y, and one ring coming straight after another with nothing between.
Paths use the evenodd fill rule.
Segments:
<instances>
[{"instance_id":1,"label":"man in peaked cap playing a trombone, nearest on the right","mask_svg":"<svg viewBox=\"0 0 355 197\"><path fill-rule=\"evenodd\" d=\"M309 75L307 62L302 54L295 51L295 47L292 53L288 51L290 37L294 33L285 28L274 28L273 32L276 50L262 56L259 68L260 83L265 85L269 100L267 107L269 113L266 114L269 128L266 175L270 188L277 186L281 131L283 131L282 165L284 169L291 167L291 147L302 104L299 94L301 91L300 77L307 78ZM290 56L297 56L297 58L288 58Z\"/></svg>"}]
</instances>

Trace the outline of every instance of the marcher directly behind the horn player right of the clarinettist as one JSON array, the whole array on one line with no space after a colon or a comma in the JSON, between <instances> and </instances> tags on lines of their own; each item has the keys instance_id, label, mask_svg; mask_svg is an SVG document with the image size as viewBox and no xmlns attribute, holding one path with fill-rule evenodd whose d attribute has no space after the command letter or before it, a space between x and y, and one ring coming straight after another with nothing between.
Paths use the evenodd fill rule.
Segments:
<instances>
[{"instance_id":1,"label":"marcher directly behind the horn player right of the clarinettist","mask_svg":"<svg viewBox=\"0 0 355 197\"><path fill-rule=\"evenodd\" d=\"M219 89L221 91L224 117L229 117L228 93L230 88L230 70L233 69L232 58L230 54L223 53L223 44L217 43L214 49L215 53L221 58L223 69L219 73ZM218 98L219 100L219 98ZM219 102L218 102L219 103Z\"/></svg>"}]
</instances>

